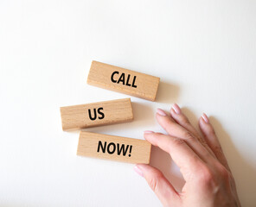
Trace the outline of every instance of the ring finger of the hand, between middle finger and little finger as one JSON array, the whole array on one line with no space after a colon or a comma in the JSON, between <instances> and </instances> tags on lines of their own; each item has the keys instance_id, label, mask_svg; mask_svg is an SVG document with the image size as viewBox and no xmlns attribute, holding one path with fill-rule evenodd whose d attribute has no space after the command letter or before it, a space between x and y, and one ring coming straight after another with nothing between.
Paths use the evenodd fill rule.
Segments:
<instances>
[{"instance_id":1,"label":"ring finger of the hand, between middle finger and little finger","mask_svg":"<svg viewBox=\"0 0 256 207\"><path fill-rule=\"evenodd\" d=\"M206 141L204 139L202 139L202 136L199 135L199 133L197 132L197 130L192 126L192 124L189 122L189 119L187 116L185 116L182 113L182 110L180 109L180 107L178 106L178 104L174 104L172 106L172 108L170 109L170 116L172 116L172 118L178 123L180 124L184 129L187 129L190 133L192 133L192 135L195 135L195 137L202 143L202 146L205 147L208 152L214 156L215 155L213 153L213 151L210 149L210 147L208 147Z\"/></svg>"}]
</instances>

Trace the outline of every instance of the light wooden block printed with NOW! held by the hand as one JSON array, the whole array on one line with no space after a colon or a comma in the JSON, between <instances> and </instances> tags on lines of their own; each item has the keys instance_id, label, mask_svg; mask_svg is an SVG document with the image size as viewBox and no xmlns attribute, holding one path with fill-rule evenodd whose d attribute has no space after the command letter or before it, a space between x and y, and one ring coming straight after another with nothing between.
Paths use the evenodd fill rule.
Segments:
<instances>
[{"instance_id":1,"label":"light wooden block printed with NOW! held by the hand","mask_svg":"<svg viewBox=\"0 0 256 207\"><path fill-rule=\"evenodd\" d=\"M150 162L148 141L80 131L77 154L87 157L131 163Z\"/></svg>"}]
</instances>

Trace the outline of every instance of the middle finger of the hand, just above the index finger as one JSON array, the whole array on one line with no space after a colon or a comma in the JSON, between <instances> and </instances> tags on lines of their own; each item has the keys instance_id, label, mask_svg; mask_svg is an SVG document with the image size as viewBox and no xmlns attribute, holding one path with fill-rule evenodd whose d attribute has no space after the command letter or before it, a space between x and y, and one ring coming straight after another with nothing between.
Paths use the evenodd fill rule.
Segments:
<instances>
[{"instance_id":1,"label":"middle finger of the hand, just above the index finger","mask_svg":"<svg viewBox=\"0 0 256 207\"><path fill-rule=\"evenodd\" d=\"M214 157L202 146L202 143L195 135L176 123L173 118L167 116L163 110L157 109L157 122L159 122L169 135L186 141L189 147L191 147L191 149L195 151L195 154L198 154L203 161L207 163L214 161Z\"/></svg>"}]
</instances>

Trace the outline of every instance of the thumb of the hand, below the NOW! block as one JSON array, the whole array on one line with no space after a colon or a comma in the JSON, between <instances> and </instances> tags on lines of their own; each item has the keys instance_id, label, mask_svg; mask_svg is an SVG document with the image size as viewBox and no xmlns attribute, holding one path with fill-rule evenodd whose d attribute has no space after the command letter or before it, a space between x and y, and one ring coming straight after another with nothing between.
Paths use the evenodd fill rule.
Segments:
<instances>
[{"instance_id":1,"label":"thumb of the hand, below the NOW! block","mask_svg":"<svg viewBox=\"0 0 256 207\"><path fill-rule=\"evenodd\" d=\"M138 164L134 166L134 170L146 179L163 206L179 205L179 194L157 168L145 164Z\"/></svg>"}]
</instances>

